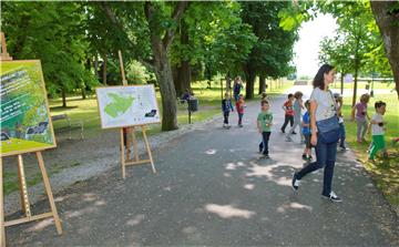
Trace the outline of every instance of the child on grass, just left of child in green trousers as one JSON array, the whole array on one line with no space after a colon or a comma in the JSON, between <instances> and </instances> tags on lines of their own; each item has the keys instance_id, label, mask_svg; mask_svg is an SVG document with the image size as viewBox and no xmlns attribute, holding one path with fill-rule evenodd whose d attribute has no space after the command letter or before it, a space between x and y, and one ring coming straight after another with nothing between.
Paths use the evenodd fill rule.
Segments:
<instances>
[{"instance_id":1,"label":"child on grass, just left of child in green trousers","mask_svg":"<svg viewBox=\"0 0 399 247\"><path fill-rule=\"evenodd\" d=\"M367 120L370 120L370 116L367 114L367 103L370 100L370 95L362 94L360 96L360 102L357 103L351 111L351 121L355 121L356 112L356 123L357 123L357 142L365 142L365 135L367 131ZM367 117L367 119L366 119Z\"/></svg>"}]
</instances>

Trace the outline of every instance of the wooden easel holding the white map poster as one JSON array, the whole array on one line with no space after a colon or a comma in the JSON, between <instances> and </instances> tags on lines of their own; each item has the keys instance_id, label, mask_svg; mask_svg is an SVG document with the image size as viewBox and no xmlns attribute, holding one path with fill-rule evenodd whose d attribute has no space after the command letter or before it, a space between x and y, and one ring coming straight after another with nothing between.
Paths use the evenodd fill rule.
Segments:
<instances>
[{"instance_id":1,"label":"wooden easel holding the white map poster","mask_svg":"<svg viewBox=\"0 0 399 247\"><path fill-rule=\"evenodd\" d=\"M119 59L120 59L120 66L121 66L121 74L122 74L122 82L123 85L127 85L127 80L125 78L125 73L124 73L124 68L123 68L123 60L122 60L122 53L121 51L117 51L119 54ZM143 138L144 138L144 144L145 144L145 150L149 154L149 158L147 159L140 159L139 158L139 147L137 147L137 138L135 136L135 131L136 127L141 127L142 133L143 133ZM129 134L131 134L132 141L133 141L133 154L134 154L134 159L131 158L131 142L129 138ZM150 143L149 143L149 138L146 136L146 126L145 125L137 125L137 126L131 126L127 127L127 135L126 135L126 154L125 154L125 145L124 145L124 136L123 136L123 127L121 128L121 165L122 165L122 177L123 179L126 177L126 166L129 165L142 165L142 164L146 164L150 163L153 173L156 173L155 166L154 166L154 161L151 154L151 147L150 147Z\"/></svg>"}]
</instances>

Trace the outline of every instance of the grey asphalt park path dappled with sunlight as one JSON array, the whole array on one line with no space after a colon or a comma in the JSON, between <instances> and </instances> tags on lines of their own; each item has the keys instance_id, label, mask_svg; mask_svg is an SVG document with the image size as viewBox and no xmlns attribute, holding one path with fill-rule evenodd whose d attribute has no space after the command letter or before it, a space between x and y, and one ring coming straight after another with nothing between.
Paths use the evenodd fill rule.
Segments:
<instances>
[{"instance_id":1,"label":"grey asphalt park path dappled with sunlight","mask_svg":"<svg viewBox=\"0 0 399 247\"><path fill-rule=\"evenodd\" d=\"M257 152L259 106L250 103L243 128L212 122L156 148L156 174L130 167L123 181L117 166L58 193L64 234L51 220L8 227L8 246L398 246L398 217L351 152L337 157L342 203L320 197L320 171L293 192L303 146L279 133L285 99L272 102L270 159Z\"/></svg>"}]
</instances>

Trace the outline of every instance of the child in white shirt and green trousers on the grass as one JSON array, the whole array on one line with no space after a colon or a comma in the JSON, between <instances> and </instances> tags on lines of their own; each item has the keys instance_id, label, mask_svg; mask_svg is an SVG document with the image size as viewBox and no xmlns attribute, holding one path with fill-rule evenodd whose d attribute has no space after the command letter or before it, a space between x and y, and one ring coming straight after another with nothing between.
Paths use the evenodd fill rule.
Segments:
<instances>
[{"instance_id":1,"label":"child in white shirt and green trousers on the grass","mask_svg":"<svg viewBox=\"0 0 399 247\"><path fill-rule=\"evenodd\" d=\"M372 146L369 153L369 161L374 162L374 158L378 151L383 151L383 156L387 156L386 145L383 141L383 134L385 134L385 125L387 123L383 122L382 115L386 112L386 103L382 101L377 101L375 103L376 107L376 114L372 115L370 120L370 126L371 126L371 135L372 135Z\"/></svg>"}]
</instances>

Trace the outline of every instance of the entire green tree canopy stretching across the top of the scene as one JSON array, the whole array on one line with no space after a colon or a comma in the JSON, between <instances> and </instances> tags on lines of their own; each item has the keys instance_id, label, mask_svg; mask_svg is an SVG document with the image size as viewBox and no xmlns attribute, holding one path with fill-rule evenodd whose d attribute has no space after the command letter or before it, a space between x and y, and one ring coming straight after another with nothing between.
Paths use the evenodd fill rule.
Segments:
<instances>
[{"instance_id":1,"label":"entire green tree canopy stretching across the top of the scene","mask_svg":"<svg viewBox=\"0 0 399 247\"><path fill-rule=\"evenodd\" d=\"M263 82L291 74L297 29L316 11L332 13L339 24L337 37L321 44L323 60L342 73L390 76L395 52L383 53L385 19L376 23L372 14L381 7L395 18L396 6L371 7L374 12L365 1L3 2L1 27L12 56L42 61L47 89L62 95L64 106L69 93L122 84L121 51L130 83L160 86L162 130L170 131L178 127L176 96L193 76L245 75L250 99L256 76Z\"/></svg>"}]
</instances>

